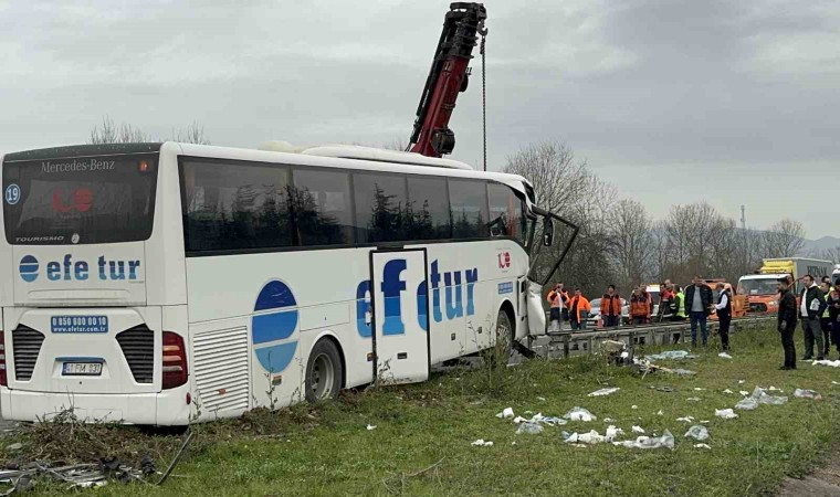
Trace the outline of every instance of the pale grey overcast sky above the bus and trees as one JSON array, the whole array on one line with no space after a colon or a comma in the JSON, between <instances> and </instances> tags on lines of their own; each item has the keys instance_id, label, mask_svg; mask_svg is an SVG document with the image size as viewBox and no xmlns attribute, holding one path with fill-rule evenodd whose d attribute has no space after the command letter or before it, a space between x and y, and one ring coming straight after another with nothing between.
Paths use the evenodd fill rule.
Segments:
<instances>
[{"instance_id":1,"label":"pale grey overcast sky above the bus and trees","mask_svg":"<svg viewBox=\"0 0 840 497\"><path fill-rule=\"evenodd\" d=\"M837 1L485 4L491 169L561 140L655 216L706 200L840 234ZM104 115L161 137L195 120L238 147L405 140L448 9L0 0L0 152L83 142ZM473 165L480 88L451 123Z\"/></svg>"}]
</instances>

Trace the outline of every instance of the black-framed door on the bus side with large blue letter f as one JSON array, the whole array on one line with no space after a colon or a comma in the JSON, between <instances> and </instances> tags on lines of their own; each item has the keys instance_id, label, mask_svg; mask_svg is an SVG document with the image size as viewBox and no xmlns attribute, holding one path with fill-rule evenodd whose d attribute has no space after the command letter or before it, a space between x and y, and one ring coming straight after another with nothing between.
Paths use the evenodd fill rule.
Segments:
<instances>
[{"instance_id":1,"label":"black-framed door on the bus side with large blue letter f","mask_svg":"<svg viewBox=\"0 0 840 497\"><path fill-rule=\"evenodd\" d=\"M374 376L377 383L429 379L426 248L370 253Z\"/></svg>"}]
</instances>

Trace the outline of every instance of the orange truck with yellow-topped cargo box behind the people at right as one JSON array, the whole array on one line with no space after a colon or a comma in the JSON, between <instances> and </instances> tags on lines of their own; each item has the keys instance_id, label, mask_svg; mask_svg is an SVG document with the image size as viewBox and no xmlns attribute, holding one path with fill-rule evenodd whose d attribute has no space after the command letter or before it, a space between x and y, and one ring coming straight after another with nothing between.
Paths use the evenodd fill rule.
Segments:
<instances>
[{"instance_id":1,"label":"orange truck with yellow-topped cargo box behind the people at right","mask_svg":"<svg viewBox=\"0 0 840 497\"><path fill-rule=\"evenodd\" d=\"M738 279L738 295L747 298L748 313L776 313L779 310L778 279L787 275L794 277L796 295L802 289L802 276L810 274L818 282L830 276L831 261L805 257L765 258L755 274Z\"/></svg>"}]
</instances>

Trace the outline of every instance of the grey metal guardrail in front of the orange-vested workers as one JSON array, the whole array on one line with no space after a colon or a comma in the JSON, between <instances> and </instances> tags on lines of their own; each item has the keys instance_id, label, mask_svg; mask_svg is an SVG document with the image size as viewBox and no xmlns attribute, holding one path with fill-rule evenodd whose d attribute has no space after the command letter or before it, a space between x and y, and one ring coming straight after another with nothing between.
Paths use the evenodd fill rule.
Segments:
<instances>
[{"instance_id":1,"label":"grey metal guardrail in front of the orange-vested workers","mask_svg":"<svg viewBox=\"0 0 840 497\"><path fill-rule=\"evenodd\" d=\"M774 315L746 316L734 318L729 332L756 329L767 326L776 320ZM710 338L716 332L718 322L710 320L707 330ZM568 358L585 353L594 353L600 350L600 343L605 340L623 341L628 347L639 345L678 345L691 340L691 324L666 322L644 326L624 326L620 328L602 328L596 331L560 331L548 335L548 352L537 350L540 356L552 358ZM529 343L533 345L533 343ZM537 347L537 349L546 346ZM528 347L534 348L534 347Z\"/></svg>"}]
</instances>

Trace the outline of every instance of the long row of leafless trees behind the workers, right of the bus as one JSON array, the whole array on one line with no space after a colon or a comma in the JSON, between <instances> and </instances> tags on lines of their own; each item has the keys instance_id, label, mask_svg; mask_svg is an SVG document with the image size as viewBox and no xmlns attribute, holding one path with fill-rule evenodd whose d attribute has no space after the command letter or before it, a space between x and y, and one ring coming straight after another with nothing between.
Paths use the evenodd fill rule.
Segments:
<instances>
[{"instance_id":1,"label":"long row of leafless trees behind the workers, right of the bus","mask_svg":"<svg viewBox=\"0 0 840 497\"><path fill-rule=\"evenodd\" d=\"M613 186L561 142L522 148L507 158L504 171L527 178L540 207L580 226L553 281L580 286L586 295L600 295L610 284L624 294L664 279L685 285L695 274L735 283L766 257L807 255L840 262L840 247L805 253L805 229L790 219L764 231L743 229L706 202L672 205L664 219L654 219L641 202L620 199ZM535 246L536 277L550 271L549 262L568 235L557 237L550 248Z\"/></svg>"}]
</instances>

